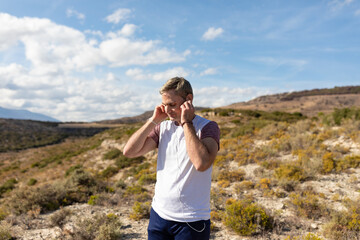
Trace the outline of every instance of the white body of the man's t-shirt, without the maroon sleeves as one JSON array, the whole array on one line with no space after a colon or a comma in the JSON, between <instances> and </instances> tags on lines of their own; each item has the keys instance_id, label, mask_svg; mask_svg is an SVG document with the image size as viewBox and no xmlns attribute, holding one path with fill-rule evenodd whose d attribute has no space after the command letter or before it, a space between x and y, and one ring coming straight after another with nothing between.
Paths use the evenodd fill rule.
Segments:
<instances>
[{"instance_id":1,"label":"white body of the man's t-shirt, without the maroon sleeves","mask_svg":"<svg viewBox=\"0 0 360 240\"><path fill-rule=\"evenodd\" d=\"M199 137L210 121L195 116L193 125ZM160 217L178 222L210 219L212 167L195 169L186 152L184 130L173 121L160 125L155 195L152 208Z\"/></svg>"}]
</instances>

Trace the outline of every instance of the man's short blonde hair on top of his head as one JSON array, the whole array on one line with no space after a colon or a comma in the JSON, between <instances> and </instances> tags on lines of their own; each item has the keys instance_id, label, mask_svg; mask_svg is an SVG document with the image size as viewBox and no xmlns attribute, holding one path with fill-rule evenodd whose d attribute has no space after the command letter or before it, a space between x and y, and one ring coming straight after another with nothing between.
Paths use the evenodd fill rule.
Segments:
<instances>
[{"instance_id":1,"label":"man's short blonde hair on top of his head","mask_svg":"<svg viewBox=\"0 0 360 240\"><path fill-rule=\"evenodd\" d=\"M191 84L183 77L170 78L160 89L160 94L169 90L175 90L175 93L180 97L186 99L188 94L193 94Z\"/></svg>"}]
</instances>

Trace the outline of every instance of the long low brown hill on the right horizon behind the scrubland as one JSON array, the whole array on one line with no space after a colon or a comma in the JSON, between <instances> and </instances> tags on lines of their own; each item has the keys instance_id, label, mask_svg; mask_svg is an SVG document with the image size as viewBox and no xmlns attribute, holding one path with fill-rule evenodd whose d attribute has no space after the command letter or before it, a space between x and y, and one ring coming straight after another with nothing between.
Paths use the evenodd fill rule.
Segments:
<instances>
[{"instance_id":1,"label":"long low brown hill on the right horizon behind the scrubland","mask_svg":"<svg viewBox=\"0 0 360 240\"><path fill-rule=\"evenodd\" d=\"M330 113L335 108L354 106L360 106L360 86L267 95L247 102L233 103L224 108L300 112L306 116L315 116L319 112Z\"/></svg>"}]
</instances>

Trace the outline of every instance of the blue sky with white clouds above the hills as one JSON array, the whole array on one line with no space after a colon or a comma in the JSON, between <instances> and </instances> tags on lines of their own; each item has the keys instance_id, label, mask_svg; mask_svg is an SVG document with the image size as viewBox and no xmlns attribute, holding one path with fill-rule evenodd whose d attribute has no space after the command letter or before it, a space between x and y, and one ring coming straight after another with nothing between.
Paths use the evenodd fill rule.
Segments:
<instances>
[{"instance_id":1,"label":"blue sky with white clouds above the hills","mask_svg":"<svg viewBox=\"0 0 360 240\"><path fill-rule=\"evenodd\" d=\"M360 85L360 0L0 0L0 107L135 116L175 76L199 107Z\"/></svg>"}]
</instances>

